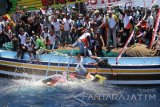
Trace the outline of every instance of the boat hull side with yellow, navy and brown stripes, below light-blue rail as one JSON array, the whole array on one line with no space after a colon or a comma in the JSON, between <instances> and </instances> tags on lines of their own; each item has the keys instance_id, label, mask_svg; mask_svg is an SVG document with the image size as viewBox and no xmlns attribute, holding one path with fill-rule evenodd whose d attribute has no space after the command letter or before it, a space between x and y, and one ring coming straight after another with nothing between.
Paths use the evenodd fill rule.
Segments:
<instances>
[{"instance_id":1,"label":"boat hull side with yellow, navy and brown stripes, below light-blue rail","mask_svg":"<svg viewBox=\"0 0 160 107\"><path fill-rule=\"evenodd\" d=\"M25 78L35 78L51 76L54 74L61 74L64 71L75 72L77 64L68 63L52 63L52 62L30 62L26 60L17 60L10 58L0 58L0 72L1 76L15 76ZM96 68L92 65L84 64L88 72L94 73ZM148 81L160 80L160 65L112 65L113 71L117 74L112 75L110 68L98 68L98 73L106 76L107 80L113 81L114 84L119 81ZM6 72L6 74L5 74ZM133 82L132 82L133 83ZM153 83L153 82L152 82ZM120 83L122 84L122 82ZM158 82L157 82L158 84ZM159 83L160 84L160 83Z\"/></svg>"}]
</instances>

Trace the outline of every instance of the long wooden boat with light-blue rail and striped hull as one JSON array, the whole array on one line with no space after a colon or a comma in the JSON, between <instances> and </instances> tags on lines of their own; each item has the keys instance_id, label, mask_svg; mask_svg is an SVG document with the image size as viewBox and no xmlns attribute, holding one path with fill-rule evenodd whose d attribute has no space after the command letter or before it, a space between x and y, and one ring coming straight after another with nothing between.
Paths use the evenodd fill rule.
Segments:
<instances>
[{"instance_id":1,"label":"long wooden boat with light-blue rail and striped hull","mask_svg":"<svg viewBox=\"0 0 160 107\"><path fill-rule=\"evenodd\" d=\"M23 60L15 58L16 52L0 50L0 75L23 78L42 78L55 73L75 72L77 60L71 56L59 55L56 52L40 55L40 61L29 61L25 54ZM122 57L116 64L116 57L105 57L117 73L113 76L111 69L98 69L98 74L105 75L111 84L160 84L160 57ZM89 63L96 62L89 57L84 58L83 65L88 72L94 73L95 66Z\"/></svg>"}]
</instances>

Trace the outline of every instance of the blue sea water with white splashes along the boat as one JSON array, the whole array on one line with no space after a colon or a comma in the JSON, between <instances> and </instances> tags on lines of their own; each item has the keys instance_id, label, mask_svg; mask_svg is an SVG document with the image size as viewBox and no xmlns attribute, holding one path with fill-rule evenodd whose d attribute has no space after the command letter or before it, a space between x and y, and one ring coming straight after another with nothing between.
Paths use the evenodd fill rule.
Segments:
<instances>
[{"instance_id":1,"label":"blue sea water with white splashes along the boat","mask_svg":"<svg viewBox=\"0 0 160 107\"><path fill-rule=\"evenodd\" d=\"M111 85L89 80L47 86L0 78L0 107L160 107L160 86Z\"/></svg>"}]
</instances>

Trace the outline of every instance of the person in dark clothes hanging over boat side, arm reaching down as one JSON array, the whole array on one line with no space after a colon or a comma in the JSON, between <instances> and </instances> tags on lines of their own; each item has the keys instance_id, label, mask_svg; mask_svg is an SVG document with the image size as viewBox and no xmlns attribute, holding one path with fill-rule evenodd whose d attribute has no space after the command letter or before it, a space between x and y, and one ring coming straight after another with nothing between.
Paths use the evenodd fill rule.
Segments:
<instances>
[{"instance_id":1,"label":"person in dark clothes hanging over boat side, arm reaching down","mask_svg":"<svg viewBox=\"0 0 160 107\"><path fill-rule=\"evenodd\" d=\"M113 76L116 76L117 74L113 71L111 64L108 63L108 59L100 59L96 56L91 56L92 59L96 60L96 63L91 63L91 65L96 66L96 72L98 72L98 68L104 68L109 67L112 71Z\"/></svg>"}]
</instances>

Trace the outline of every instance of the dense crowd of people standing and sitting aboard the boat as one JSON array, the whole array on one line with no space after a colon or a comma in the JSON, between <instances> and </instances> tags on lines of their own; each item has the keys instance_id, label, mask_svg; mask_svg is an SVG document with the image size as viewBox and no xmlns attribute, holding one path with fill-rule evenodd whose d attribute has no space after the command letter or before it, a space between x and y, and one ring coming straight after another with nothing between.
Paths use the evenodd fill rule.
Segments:
<instances>
[{"instance_id":1,"label":"dense crowd of people standing and sitting aboard the boat","mask_svg":"<svg viewBox=\"0 0 160 107\"><path fill-rule=\"evenodd\" d=\"M113 6L107 9L89 9L83 14L76 8L54 9L46 6L27 11L17 6L11 19L0 15L0 47L13 44L17 57L28 52L31 59L60 47L79 47L84 56L100 56L102 50L123 47L135 30L129 46L140 43L149 47L159 6L152 9L131 6ZM139 23L140 22L140 23ZM155 38L155 49L160 50L160 26Z\"/></svg>"}]
</instances>

